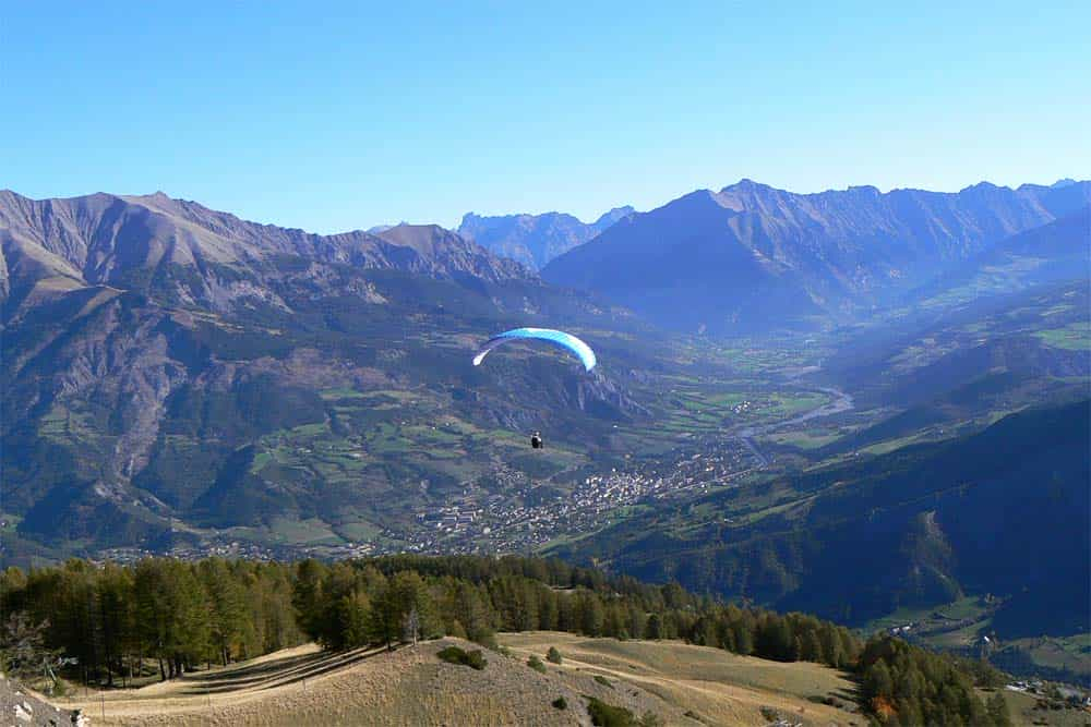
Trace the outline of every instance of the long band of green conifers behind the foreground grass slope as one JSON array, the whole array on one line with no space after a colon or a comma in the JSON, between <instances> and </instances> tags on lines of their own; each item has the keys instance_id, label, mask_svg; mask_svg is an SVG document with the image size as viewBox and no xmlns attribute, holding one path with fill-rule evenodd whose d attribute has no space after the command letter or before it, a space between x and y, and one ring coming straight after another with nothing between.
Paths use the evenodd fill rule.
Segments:
<instances>
[{"instance_id":1,"label":"long band of green conifers behind the foreground grass slope","mask_svg":"<svg viewBox=\"0 0 1091 727\"><path fill-rule=\"evenodd\" d=\"M107 686L124 683L148 662L170 679L197 665L226 665L308 640L340 651L446 634L496 649L499 631L551 630L679 639L853 670L862 705L882 722L918 724L904 722L909 715L925 723L1006 724L949 657L889 638L864 643L804 614L741 608L676 583L652 585L560 560L404 555L335 564L147 558L98 566L72 559L4 570L0 608L9 621L19 619L0 643L4 668L34 666L25 663L29 623L40 632L41 653L74 657L79 667L70 673ZM15 627L21 655L10 645L19 641ZM934 719L940 714L945 718Z\"/></svg>"}]
</instances>

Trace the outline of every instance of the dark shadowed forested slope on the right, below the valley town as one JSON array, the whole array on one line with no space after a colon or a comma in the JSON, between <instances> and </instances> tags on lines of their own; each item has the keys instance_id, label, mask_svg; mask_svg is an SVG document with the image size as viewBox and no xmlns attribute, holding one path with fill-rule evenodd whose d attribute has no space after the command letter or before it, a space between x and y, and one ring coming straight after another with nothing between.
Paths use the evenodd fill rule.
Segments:
<instances>
[{"instance_id":1,"label":"dark shadowed forested slope on the right, below the valley town","mask_svg":"<svg viewBox=\"0 0 1091 727\"><path fill-rule=\"evenodd\" d=\"M563 553L849 622L987 592L1012 596L1018 625L995 621L1010 633L1086 631L1089 404L710 495L685 510L700 519L638 516Z\"/></svg>"}]
</instances>

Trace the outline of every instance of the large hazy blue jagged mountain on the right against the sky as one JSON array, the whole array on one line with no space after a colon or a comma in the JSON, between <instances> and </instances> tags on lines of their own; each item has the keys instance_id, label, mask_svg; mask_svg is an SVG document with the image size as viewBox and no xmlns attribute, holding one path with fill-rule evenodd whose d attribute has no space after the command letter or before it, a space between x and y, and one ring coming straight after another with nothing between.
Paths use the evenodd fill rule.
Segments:
<instances>
[{"instance_id":1,"label":"large hazy blue jagged mountain on the right against the sky","mask_svg":"<svg viewBox=\"0 0 1091 727\"><path fill-rule=\"evenodd\" d=\"M684 328L783 324L882 304L1089 202L1091 182L794 194L743 180L631 215L542 276Z\"/></svg>"}]
</instances>

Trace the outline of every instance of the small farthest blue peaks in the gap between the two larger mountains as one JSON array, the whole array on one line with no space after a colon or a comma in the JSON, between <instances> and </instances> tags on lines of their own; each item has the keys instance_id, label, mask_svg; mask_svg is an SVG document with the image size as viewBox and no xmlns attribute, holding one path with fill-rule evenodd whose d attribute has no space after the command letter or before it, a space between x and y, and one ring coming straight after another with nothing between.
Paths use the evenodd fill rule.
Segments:
<instances>
[{"instance_id":1,"label":"small farthest blue peaks in the gap between the two larger mountains","mask_svg":"<svg viewBox=\"0 0 1091 727\"><path fill-rule=\"evenodd\" d=\"M633 211L628 206L615 207L589 225L563 213L500 217L479 217L469 213L463 217L458 234L537 270Z\"/></svg>"}]
</instances>

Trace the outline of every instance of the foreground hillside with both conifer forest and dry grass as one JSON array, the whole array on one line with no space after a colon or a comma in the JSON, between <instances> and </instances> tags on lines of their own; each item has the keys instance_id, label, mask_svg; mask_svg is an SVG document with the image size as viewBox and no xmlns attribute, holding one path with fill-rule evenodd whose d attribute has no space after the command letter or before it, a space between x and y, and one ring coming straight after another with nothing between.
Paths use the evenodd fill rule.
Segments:
<instances>
[{"instance_id":1,"label":"foreground hillside with both conifer forest and dry grass","mask_svg":"<svg viewBox=\"0 0 1091 727\"><path fill-rule=\"evenodd\" d=\"M792 708L794 719L807 710L796 704L799 699L868 715L892 710L933 722L1005 724L974 695L975 684L995 686L1003 676L972 662L932 655L889 637L865 643L843 627L805 614L741 609L686 593L676 583L640 584L560 561L398 556L334 566L307 560L288 567L149 559L119 568L72 559L62 568L0 572L0 606L13 615L0 635L0 662L7 668L21 678L48 682L50 693L64 690L58 690L63 684L56 677L43 676L49 674L49 664L70 680L81 679L85 688L105 686L110 700L122 702L122 720L145 719L148 712L160 715L185 695L204 696L205 703L180 703L187 714L179 718L188 718L195 707L214 711L216 698L227 692L242 701L266 702L264 695L293 684L305 692L309 682L331 670L358 663L382 665L391 658L389 650L411 645L398 653L424 653L428 669L409 668L404 661L380 667L374 674L385 680L382 688L372 689L367 680L355 688L368 695L357 703L358 712L384 718L394 714L395 724L429 724L433 715L465 724L463 716L451 714L451 705L461 710L480 703L485 724L526 724L493 710L494 702L473 699L481 682L470 673L481 673L495 677L482 690L489 694L525 694L529 684L530 693L540 696L540 677L561 678L561 683L546 687L567 684L575 699L554 690L551 707L567 717L572 713L565 706L571 704L578 717L580 703L575 700L583 698L592 722L614 727L661 724L663 715L673 719L679 713L699 720L704 711L734 714L745 723L756 718L755 707L768 722ZM512 654L497 632L530 633L503 637L515 652L514 662L508 663ZM298 647L303 634L321 644L322 653L291 652L286 661L230 666L255 654ZM436 673L447 666L437 666L429 652L417 649L419 641L444 637L451 639L431 653L461 669L453 676ZM488 651L470 646L463 641L467 638ZM213 663L223 666L221 674L212 673ZM823 666L795 668L798 663L851 673L860 688ZM508 687L512 664L530 675ZM907 679L894 681L891 673ZM404 674L408 676L400 679ZM129 691L156 678L154 687ZM469 678L470 683L459 681ZM503 683L493 683L496 679ZM119 683L122 689L116 691ZM449 699L443 693L447 683L458 689ZM415 698L419 690L428 696ZM645 692L667 706L649 701ZM100 710L106 699L107 693L99 695ZM496 710L511 708L512 703ZM514 703L528 715L540 706ZM428 711L421 711L424 707ZM296 718L312 724L359 723L357 715L336 710L328 719L307 716L308 710L317 708L311 702L291 708L302 711ZM261 719L280 719L284 714L279 710ZM231 717L249 718L245 713Z\"/></svg>"}]
</instances>

